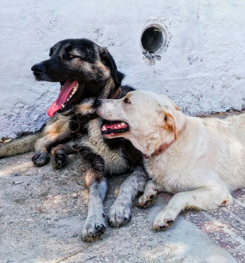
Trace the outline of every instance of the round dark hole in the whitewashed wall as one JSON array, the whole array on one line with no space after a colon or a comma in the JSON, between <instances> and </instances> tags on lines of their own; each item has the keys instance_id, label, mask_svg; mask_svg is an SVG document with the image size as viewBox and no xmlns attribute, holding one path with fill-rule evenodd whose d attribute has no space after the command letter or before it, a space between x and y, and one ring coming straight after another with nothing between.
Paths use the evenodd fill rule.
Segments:
<instances>
[{"instance_id":1,"label":"round dark hole in the whitewashed wall","mask_svg":"<svg viewBox=\"0 0 245 263\"><path fill-rule=\"evenodd\" d=\"M163 45L163 33L159 27L149 26L141 36L141 44L145 51L156 52Z\"/></svg>"}]
</instances>

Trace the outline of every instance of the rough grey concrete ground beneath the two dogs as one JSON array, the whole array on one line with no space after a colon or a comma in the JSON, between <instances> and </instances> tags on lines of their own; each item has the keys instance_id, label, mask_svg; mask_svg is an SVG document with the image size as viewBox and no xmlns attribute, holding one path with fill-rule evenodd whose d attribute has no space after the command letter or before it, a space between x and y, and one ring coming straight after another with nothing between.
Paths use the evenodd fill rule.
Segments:
<instances>
[{"instance_id":1,"label":"rough grey concrete ground beneath the two dogs","mask_svg":"<svg viewBox=\"0 0 245 263\"><path fill-rule=\"evenodd\" d=\"M171 198L162 193L151 208L133 207L127 225L108 226L101 240L85 243L80 233L88 191L78 157L53 170L33 166L31 156L0 159L0 262L245 262L245 189L233 193L232 206L182 212L172 228L158 233L151 229L154 217ZM126 176L108 179L106 212Z\"/></svg>"}]
</instances>

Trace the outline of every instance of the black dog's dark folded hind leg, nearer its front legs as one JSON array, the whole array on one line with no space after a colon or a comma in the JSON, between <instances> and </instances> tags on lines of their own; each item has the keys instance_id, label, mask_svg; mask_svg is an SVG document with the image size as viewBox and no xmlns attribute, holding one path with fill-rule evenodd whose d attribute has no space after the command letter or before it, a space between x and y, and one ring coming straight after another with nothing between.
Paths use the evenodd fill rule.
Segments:
<instances>
[{"instance_id":1,"label":"black dog's dark folded hind leg, nearer its front legs","mask_svg":"<svg viewBox=\"0 0 245 263\"><path fill-rule=\"evenodd\" d=\"M75 143L73 141L69 141L64 144L59 144L51 149L51 163L54 169L65 166L67 155L77 152L74 147Z\"/></svg>"}]
</instances>

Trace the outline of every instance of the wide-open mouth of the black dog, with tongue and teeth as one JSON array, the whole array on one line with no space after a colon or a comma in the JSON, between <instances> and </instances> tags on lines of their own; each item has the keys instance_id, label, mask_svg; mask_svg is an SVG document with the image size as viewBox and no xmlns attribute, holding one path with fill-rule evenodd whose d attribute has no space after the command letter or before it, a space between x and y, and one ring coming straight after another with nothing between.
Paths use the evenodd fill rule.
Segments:
<instances>
[{"instance_id":1,"label":"wide-open mouth of the black dog, with tongue and teeth","mask_svg":"<svg viewBox=\"0 0 245 263\"><path fill-rule=\"evenodd\" d=\"M71 105L73 96L77 93L78 86L78 81L74 79L68 79L64 82L56 101L48 108L49 117L52 117L58 110Z\"/></svg>"}]
</instances>

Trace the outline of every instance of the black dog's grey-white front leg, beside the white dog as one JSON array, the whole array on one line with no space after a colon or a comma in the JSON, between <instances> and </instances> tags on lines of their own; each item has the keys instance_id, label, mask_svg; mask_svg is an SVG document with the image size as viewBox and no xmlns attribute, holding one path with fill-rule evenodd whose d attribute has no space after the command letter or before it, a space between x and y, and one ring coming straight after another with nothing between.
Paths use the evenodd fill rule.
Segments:
<instances>
[{"instance_id":1,"label":"black dog's grey-white front leg, beside the white dog","mask_svg":"<svg viewBox=\"0 0 245 263\"><path fill-rule=\"evenodd\" d=\"M138 191L143 191L148 180L147 172L143 167L137 167L136 170L123 182L119 194L109 210L109 225L120 227L131 218L132 201Z\"/></svg>"}]
</instances>

